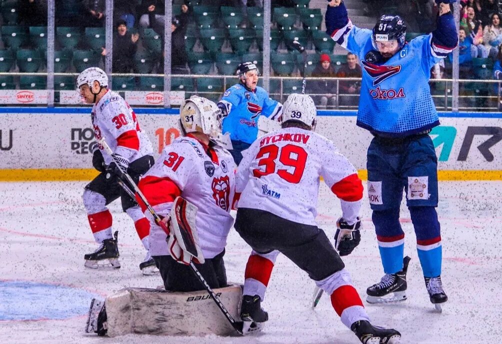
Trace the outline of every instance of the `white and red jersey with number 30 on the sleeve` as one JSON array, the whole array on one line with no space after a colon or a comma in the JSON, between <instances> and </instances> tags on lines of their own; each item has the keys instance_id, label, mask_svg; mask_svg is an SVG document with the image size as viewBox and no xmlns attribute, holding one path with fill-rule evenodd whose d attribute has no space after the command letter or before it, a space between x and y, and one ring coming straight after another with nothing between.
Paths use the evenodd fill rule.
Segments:
<instances>
[{"instance_id":1,"label":"white and red jersey with number 30 on the sleeve","mask_svg":"<svg viewBox=\"0 0 502 344\"><path fill-rule=\"evenodd\" d=\"M117 93L108 90L92 107L91 118L96 139L103 137L114 153L128 158L129 162L153 154L152 143L141 130L136 114ZM111 157L98 146L104 162L109 164Z\"/></svg>"}]
</instances>

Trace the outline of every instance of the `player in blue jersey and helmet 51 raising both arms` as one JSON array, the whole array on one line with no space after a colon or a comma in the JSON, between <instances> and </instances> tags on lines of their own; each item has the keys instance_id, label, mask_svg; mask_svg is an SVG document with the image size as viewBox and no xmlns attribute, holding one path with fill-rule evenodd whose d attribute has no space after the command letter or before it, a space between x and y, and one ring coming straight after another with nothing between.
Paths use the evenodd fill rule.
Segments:
<instances>
[{"instance_id":1,"label":"player in blue jersey and helmet 51 raising both arms","mask_svg":"<svg viewBox=\"0 0 502 344\"><path fill-rule=\"evenodd\" d=\"M437 27L429 35L405 41L399 16L382 16L373 30L352 24L341 0L326 11L326 32L354 53L363 67L357 125L374 138L367 151L368 197L385 276L366 293L370 303L406 299L404 232L399 210L406 192L417 236L417 251L429 297L436 308L447 301L441 283L441 235L437 158L428 135L439 125L428 81L432 66L457 46L450 3L436 0Z\"/></svg>"}]
</instances>

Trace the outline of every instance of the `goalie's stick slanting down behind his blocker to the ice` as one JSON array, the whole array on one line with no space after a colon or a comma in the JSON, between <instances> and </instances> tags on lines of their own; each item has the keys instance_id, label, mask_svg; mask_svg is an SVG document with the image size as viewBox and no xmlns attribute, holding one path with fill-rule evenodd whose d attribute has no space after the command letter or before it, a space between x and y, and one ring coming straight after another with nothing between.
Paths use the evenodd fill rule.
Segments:
<instances>
[{"instance_id":1,"label":"goalie's stick slanting down behind his blocker to the ice","mask_svg":"<svg viewBox=\"0 0 502 344\"><path fill-rule=\"evenodd\" d=\"M98 141L103 146L103 149L106 151L106 153L108 153L108 155L110 155L112 159L115 159L114 156L113 156L113 151L108 146L108 144L106 143L106 141L104 139L102 139L102 138L99 139ZM162 219L160 218L160 216L157 215L157 213L155 212L155 210L150 206L150 204L148 203L147 199L145 198L145 195L143 195L143 193L138 188L138 186L136 185L136 183L133 181L133 179L131 178L131 176L129 176L126 171L122 170L122 168L120 167L120 165L118 163L117 163L117 167L120 170L121 176L123 178L125 178L128 181L128 183L131 184L131 187L138 194L138 196L143 201L143 203L145 203L145 206L147 207L147 209L150 211L150 213L154 217L155 222L159 225L159 227L161 227L164 230L164 232L166 232L167 235L169 235L169 229L162 222ZM230 322L230 325L239 334L243 334L244 322L243 321L236 321L232 317L232 315L228 312L228 310L226 309L226 307L223 305L223 303L219 299L218 295L216 295L216 293L213 291L213 289L209 286L209 284L204 279L204 277L202 276L202 274L199 272L199 270L197 269L197 267L193 264L193 262L190 262L190 268L192 269L193 273L197 276L197 279L204 285L204 288L206 289L206 291L208 292L208 294L212 297L213 301L216 303L216 305L221 310L221 312L223 313L223 315L226 317L226 319L228 320L228 322Z\"/></svg>"}]
</instances>

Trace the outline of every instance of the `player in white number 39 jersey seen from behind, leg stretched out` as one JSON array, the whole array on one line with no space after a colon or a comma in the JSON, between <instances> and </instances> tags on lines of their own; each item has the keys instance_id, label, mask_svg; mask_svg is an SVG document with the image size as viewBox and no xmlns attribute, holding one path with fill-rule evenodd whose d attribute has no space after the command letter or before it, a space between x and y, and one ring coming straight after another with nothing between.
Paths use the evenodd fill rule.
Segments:
<instances>
[{"instance_id":1,"label":"player in white number 39 jersey seen from behind, leg stretched out","mask_svg":"<svg viewBox=\"0 0 502 344\"><path fill-rule=\"evenodd\" d=\"M340 255L360 242L362 184L354 166L333 142L314 133L316 108L305 94L291 94L284 103L282 128L261 136L247 150L237 169L235 229L253 248L245 269L242 320L264 322L261 308L279 252L308 273L331 297L345 326L363 343L399 342L395 329L371 325ZM319 178L340 199L333 248L315 222Z\"/></svg>"}]
</instances>

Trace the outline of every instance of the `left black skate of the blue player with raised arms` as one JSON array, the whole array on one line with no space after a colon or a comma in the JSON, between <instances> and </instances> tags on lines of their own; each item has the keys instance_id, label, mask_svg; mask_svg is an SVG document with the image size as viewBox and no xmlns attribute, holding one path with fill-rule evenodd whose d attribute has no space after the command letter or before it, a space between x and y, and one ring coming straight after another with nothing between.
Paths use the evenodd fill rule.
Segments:
<instances>
[{"instance_id":1,"label":"left black skate of the blue player with raised arms","mask_svg":"<svg viewBox=\"0 0 502 344\"><path fill-rule=\"evenodd\" d=\"M403 270L394 274L385 274L380 283L373 284L366 290L368 303L388 303L406 300L406 272L411 258L403 259Z\"/></svg>"}]
</instances>

